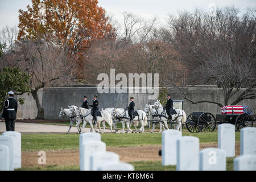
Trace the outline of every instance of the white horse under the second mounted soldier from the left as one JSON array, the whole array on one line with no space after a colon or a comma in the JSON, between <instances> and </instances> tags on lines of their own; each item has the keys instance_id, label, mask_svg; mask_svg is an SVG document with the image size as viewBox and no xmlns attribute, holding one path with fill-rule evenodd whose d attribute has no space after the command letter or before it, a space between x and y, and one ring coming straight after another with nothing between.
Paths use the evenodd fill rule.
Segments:
<instances>
[{"instance_id":1,"label":"white horse under the second mounted soldier from the left","mask_svg":"<svg viewBox=\"0 0 256 182\"><path fill-rule=\"evenodd\" d=\"M82 129L84 129L86 123L90 123L90 128L92 129L92 131L94 132L94 129L93 129L93 116L91 114L91 110L92 109L85 109L83 107L80 107L79 110L78 110L78 116L77 117L82 117L83 121L84 121L84 124L82 125ZM106 124L105 122L108 123L108 125L110 126L110 131L113 133L113 130L112 130L112 125L113 125L113 120L112 120L112 115L109 111L106 111L106 110L102 110L101 111L101 116L97 116L97 123L96 123L96 126L95 126L95 130L97 128L97 126L100 128L100 133L101 133L101 127L100 127L100 124L102 122L102 125L103 125L103 132L105 132L105 127L106 127Z\"/></svg>"}]
</instances>

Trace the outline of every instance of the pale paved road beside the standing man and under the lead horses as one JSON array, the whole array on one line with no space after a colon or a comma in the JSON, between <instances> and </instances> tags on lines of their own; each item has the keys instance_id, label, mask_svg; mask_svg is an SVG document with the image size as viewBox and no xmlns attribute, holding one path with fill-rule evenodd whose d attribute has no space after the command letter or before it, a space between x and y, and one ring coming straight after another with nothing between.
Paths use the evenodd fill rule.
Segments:
<instances>
[{"instance_id":1,"label":"pale paved road beside the standing man and under the lead horses","mask_svg":"<svg viewBox=\"0 0 256 182\"><path fill-rule=\"evenodd\" d=\"M75 126L75 125L74 125ZM77 133L77 128L72 127L69 133ZM36 123L15 123L15 131L20 133L66 133L69 129L69 126L58 126L58 125L43 125ZM102 127L101 127L102 129ZM5 122L0 122L0 133L6 131ZM90 128L85 127L82 132L88 132ZM106 133L109 133L110 130L105 130Z\"/></svg>"}]
</instances>

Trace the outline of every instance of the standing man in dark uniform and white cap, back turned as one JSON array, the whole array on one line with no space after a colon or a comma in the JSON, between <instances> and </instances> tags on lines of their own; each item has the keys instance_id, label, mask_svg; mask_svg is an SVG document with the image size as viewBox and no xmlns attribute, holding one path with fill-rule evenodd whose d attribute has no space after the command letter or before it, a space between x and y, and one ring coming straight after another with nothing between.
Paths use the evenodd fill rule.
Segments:
<instances>
[{"instance_id":1,"label":"standing man in dark uniform and white cap, back turned","mask_svg":"<svg viewBox=\"0 0 256 182\"><path fill-rule=\"evenodd\" d=\"M14 92L8 92L8 99L3 106L2 118L5 118L6 131L15 131L15 119L18 109L18 103L13 98Z\"/></svg>"}]
</instances>

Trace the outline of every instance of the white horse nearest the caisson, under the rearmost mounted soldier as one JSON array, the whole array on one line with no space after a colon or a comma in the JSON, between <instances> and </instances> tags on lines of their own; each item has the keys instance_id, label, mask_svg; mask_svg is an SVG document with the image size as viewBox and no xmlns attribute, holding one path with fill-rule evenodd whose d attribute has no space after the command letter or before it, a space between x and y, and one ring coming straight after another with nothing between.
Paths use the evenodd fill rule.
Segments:
<instances>
[{"instance_id":1,"label":"white horse nearest the caisson, under the rearmost mounted soldier","mask_svg":"<svg viewBox=\"0 0 256 182\"><path fill-rule=\"evenodd\" d=\"M156 117L157 119L159 119L159 124L160 124L159 133L162 132L162 123L164 123L164 125L163 125L164 130L165 129L168 130L168 125L167 125L168 115L159 100L156 100L154 105L147 104L144 110L146 111L147 114L151 113L151 115L153 117ZM172 114L171 120L177 122L175 129L182 131L181 121L185 122L187 120L187 115L186 115L185 111L182 109L174 108L174 110L176 111L177 114ZM151 133L153 133L154 130L155 130L155 123L153 124L153 129L152 129Z\"/></svg>"}]
</instances>

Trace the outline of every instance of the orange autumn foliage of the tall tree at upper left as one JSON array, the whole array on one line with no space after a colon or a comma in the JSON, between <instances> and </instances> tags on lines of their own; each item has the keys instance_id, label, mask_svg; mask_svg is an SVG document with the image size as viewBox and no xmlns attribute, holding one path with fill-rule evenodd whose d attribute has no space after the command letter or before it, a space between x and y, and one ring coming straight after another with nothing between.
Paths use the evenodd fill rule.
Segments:
<instances>
[{"instance_id":1,"label":"orange autumn foliage of the tall tree at upper left","mask_svg":"<svg viewBox=\"0 0 256 182\"><path fill-rule=\"evenodd\" d=\"M97 3L97 0L32 0L32 7L28 5L27 11L19 10L18 40L55 36L57 45L68 46L68 52L76 55L77 73L81 75L82 55L90 43L115 37L105 10Z\"/></svg>"}]
</instances>

